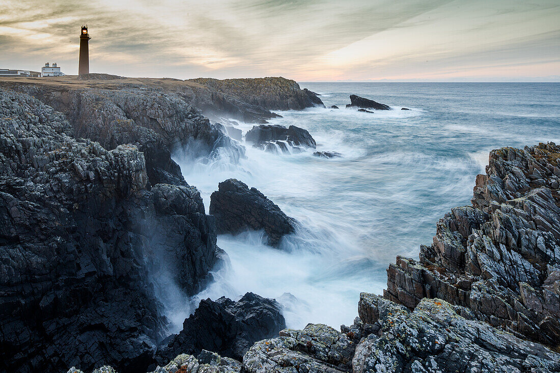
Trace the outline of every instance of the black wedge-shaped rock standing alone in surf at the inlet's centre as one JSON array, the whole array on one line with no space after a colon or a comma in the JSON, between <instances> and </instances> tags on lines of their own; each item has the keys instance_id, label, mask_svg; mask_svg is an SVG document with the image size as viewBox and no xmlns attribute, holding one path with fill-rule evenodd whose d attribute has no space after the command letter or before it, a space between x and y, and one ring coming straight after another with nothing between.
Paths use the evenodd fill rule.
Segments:
<instances>
[{"instance_id":1,"label":"black wedge-shaped rock standing alone in surf at the inlet's centre","mask_svg":"<svg viewBox=\"0 0 560 373\"><path fill-rule=\"evenodd\" d=\"M268 244L278 245L282 236L295 230L296 221L263 193L236 179L222 181L210 197L210 214L216 218L218 234L264 230Z\"/></svg>"}]
</instances>

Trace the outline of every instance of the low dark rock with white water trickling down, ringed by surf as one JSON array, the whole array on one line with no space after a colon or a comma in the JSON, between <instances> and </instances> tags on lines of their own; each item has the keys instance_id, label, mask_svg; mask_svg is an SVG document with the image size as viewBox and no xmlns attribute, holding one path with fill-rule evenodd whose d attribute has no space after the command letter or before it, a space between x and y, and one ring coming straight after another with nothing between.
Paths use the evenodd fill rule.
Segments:
<instances>
[{"instance_id":1,"label":"low dark rock with white water trickling down, ringed by surf","mask_svg":"<svg viewBox=\"0 0 560 373\"><path fill-rule=\"evenodd\" d=\"M286 128L279 124L261 124L254 125L253 128L245 134L245 141L262 146L267 142L282 141L288 142L291 146L306 146L316 148L315 139L311 137L306 129L291 125Z\"/></svg>"}]
</instances>

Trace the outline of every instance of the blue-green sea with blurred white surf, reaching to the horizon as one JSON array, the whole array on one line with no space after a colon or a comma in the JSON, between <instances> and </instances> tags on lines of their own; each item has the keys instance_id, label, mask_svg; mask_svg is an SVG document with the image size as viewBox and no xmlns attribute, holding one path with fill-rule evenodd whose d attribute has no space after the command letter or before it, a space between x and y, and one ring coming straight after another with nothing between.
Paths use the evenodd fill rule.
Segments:
<instances>
[{"instance_id":1,"label":"blue-green sea with blurred white surf, reaching to the horizon","mask_svg":"<svg viewBox=\"0 0 560 373\"><path fill-rule=\"evenodd\" d=\"M218 183L236 178L255 186L301 222L280 249L262 232L218 236L230 263L197 299L239 299L253 291L284 307L287 325L338 328L357 316L360 292L382 293L396 255L417 258L436 222L470 204L475 176L488 152L503 146L560 142L558 83L302 83L325 105L278 111L272 124L309 130L324 159L307 151L274 155L247 147L234 164L176 155L186 181L208 210ZM344 109L356 94L395 110ZM411 110L400 110L402 107ZM240 123L245 133L252 124ZM184 315L176 317L180 324Z\"/></svg>"}]
</instances>

